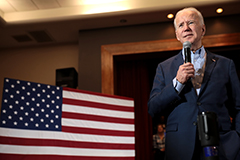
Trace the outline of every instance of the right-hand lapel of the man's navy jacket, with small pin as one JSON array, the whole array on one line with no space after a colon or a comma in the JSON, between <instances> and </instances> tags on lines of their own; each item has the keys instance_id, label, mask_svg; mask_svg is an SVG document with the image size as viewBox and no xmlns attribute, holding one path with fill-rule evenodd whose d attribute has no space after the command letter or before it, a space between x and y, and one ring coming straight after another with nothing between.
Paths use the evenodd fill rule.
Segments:
<instances>
[{"instance_id":1,"label":"right-hand lapel of the man's navy jacket, with small pin","mask_svg":"<svg viewBox=\"0 0 240 160\"><path fill-rule=\"evenodd\" d=\"M205 67L205 72L204 72L204 77L203 77L203 81L202 81L202 85L201 85L201 90L199 93L199 97L201 96L201 94L204 92L206 85L209 81L209 78L212 74L212 71L214 69L214 67L217 64L217 60L218 58L215 57L215 55L209 51L207 51L207 61L206 61L206 67Z\"/></svg>"}]
</instances>

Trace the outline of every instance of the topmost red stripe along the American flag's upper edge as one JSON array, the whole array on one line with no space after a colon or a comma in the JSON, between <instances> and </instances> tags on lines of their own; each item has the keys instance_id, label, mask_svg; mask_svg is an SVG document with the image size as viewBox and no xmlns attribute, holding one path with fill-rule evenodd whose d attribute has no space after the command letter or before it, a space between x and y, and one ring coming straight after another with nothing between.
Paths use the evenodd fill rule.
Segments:
<instances>
[{"instance_id":1,"label":"topmost red stripe along the American flag's upper edge","mask_svg":"<svg viewBox=\"0 0 240 160\"><path fill-rule=\"evenodd\" d=\"M91 95L96 95L96 96L101 96L101 97L109 97L109 98L117 98L117 99L132 100L133 101L133 98L129 98L129 97L122 97L122 96L117 96L117 95L97 93L97 92L85 91L85 90L80 90L80 89L73 89L73 88L63 87L63 90L64 91L76 92L76 93L91 94Z\"/></svg>"}]
</instances>

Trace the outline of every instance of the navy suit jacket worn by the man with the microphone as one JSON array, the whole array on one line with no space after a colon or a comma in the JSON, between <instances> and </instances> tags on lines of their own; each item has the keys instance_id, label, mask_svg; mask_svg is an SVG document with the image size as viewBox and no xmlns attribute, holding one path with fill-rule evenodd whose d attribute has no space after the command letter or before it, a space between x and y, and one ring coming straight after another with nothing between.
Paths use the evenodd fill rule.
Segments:
<instances>
[{"instance_id":1,"label":"navy suit jacket worn by the man with the microphone","mask_svg":"<svg viewBox=\"0 0 240 160\"><path fill-rule=\"evenodd\" d=\"M240 148L240 82L232 60L207 51L201 90L197 96L191 81L180 94L172 80L184 63L182 52L160 63L148 102L148 112L167 116L167 160L191 160L197 133L197 115L215 112L220 133L220 159L234 160ZM235 127L230 121L235 119ZM197 137L198 138L198 137Z\"/></svg>"}]
</instances>

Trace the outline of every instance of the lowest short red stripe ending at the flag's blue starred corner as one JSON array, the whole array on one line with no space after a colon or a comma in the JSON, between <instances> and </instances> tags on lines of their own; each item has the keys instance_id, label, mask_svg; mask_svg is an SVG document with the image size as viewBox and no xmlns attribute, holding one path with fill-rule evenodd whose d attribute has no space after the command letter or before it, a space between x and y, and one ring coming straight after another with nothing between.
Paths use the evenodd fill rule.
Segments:
<instances>
[{"instance_id":1,"label":"lowest short red stripe ending at the flag's blue starred corner","mask_svg":"<svg viewBox=\"0 0 240 160\"><path fill-rule=\"evenodd\" d=\"M63 132L79 133L79 134L93 134L104 136L126 136L134 137L134 131L113 131L104 129L80 128L80 127L66 127L62 126Z\"/></svg>"}]
</instances>

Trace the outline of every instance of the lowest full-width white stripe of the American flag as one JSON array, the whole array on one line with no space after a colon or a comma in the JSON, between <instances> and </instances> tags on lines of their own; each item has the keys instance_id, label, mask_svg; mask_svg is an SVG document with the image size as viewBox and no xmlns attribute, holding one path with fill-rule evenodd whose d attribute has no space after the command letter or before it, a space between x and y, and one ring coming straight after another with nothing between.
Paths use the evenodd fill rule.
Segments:
<instances>
[{"instance_id":1,"label":"lowest full-width white stripe of the American flag","mask_svg":"<svg viewBox=\"0 0 240 160\"><path fill-rule=\"evenodd\" d=\"M81 149L67 147L37 147L21 145L0 145L0 153L31 155L70 155L99 157L134 157L134 150Z\"/></svg>"}]
</instances>

